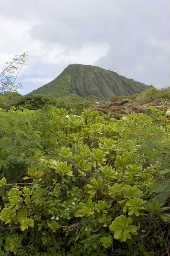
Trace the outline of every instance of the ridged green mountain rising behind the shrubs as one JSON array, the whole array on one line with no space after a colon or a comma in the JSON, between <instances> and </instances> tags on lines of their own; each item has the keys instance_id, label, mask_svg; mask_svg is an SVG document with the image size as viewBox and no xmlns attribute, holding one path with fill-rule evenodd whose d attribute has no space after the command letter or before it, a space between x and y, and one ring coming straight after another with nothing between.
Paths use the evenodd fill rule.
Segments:
<instances>
[{"instance_id":1,"label":"ridged green mountain rising behind the shrubs","mask_svg":"<svg viewBox=\"0 0 170 256\"><path fill-rule=\"evenodd\" d=\"M93 95L101 99L110 99L112 96L129 96L141 93L153 87L119 76L116 72L101 67L71 64L56 79L29 94L48 95L54 92L65 75L71 76L71 85L66 84L67 90L63 92L63 96L75 94L80 97L87 97Z\"/></svg>"}]
</instances>

